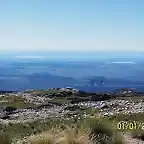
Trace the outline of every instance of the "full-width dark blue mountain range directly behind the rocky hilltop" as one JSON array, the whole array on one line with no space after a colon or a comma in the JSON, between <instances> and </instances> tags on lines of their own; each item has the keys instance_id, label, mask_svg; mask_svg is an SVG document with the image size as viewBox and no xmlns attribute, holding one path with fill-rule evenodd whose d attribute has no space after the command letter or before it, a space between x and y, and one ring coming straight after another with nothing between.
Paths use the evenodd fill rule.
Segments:
<instances>
[{"instance_id":1,"label":"full-width dark blue mountain range directly behind the rocky hilltop","mask_svg":"<svg viewBox=\"0 0 144 144\"><path fill-rule=\"evenodd\" d=\"M96 85L91 85L94 81ZM103 84L101 84L103 81ZM116 88L135 87L143 90L144 82L130 81L126 79L114 79L101 76L83 77L76 79L72 77L51 75L49 73L34 73L18 76L0 78L0 90L19 91L25 89L48 89L73 87L84 91L113 91Z\"/></svg>"}]
</instances>

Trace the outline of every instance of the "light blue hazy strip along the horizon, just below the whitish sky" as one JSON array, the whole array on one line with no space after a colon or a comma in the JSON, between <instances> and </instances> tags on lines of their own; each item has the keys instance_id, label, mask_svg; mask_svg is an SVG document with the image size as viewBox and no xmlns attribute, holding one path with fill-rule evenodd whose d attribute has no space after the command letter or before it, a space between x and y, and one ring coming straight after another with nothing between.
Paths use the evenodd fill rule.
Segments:
<instances>
[{"instance_id":1,"label":"light blue hazy strip along the horizon, just below the whitish sky","mask_svg":"<svg viewBox=\"0 0 144 144\"><path fill-rule=\"evenodd\" d=\"M12 60L114 60L116 62L133 62L142 60L144 53L139 52L85 52L85 51L3 51L0 53L0 59Z\"/></svg>"}]
</instances>

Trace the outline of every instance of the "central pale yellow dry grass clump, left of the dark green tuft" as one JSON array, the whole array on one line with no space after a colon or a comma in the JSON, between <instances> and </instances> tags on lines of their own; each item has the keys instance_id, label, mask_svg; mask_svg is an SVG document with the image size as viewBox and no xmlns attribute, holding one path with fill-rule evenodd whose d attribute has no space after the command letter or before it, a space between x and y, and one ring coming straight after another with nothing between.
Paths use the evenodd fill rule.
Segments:
<instances>
[{"instance_id":1,"label":"central pale yellow dry grass clump, left of the dark green tuft","mask_svg":"<svg viewBox=\"0 0 144 144\"><path fill-rule=\"evenodd\" d=\"M76 128L50 130L39 135L30 136L27 144L92 144L86 132Z\"/></svg>"}]
</instances>

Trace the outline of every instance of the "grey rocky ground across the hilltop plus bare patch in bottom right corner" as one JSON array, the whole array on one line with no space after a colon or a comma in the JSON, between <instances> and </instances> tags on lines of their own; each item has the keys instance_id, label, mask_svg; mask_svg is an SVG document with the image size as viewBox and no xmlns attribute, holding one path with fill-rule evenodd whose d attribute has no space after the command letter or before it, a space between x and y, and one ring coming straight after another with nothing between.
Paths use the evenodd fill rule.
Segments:
<instances>
[{"instance_id":1,"label":"grey rocky ground across the hilltop plus bare patch in bottom right corner","mask_svg":"<svg viewBox=\"0 0 144 144\"><path fill-rule=\"evenodd\" d=\"M144 97L116 97L111 94L80 92L73 89L49 89L0 95L0 123L26 123L56 118L109 117L144 113ZM128 133L130 143L143 143Z\"/></svg>"}]
</instances>

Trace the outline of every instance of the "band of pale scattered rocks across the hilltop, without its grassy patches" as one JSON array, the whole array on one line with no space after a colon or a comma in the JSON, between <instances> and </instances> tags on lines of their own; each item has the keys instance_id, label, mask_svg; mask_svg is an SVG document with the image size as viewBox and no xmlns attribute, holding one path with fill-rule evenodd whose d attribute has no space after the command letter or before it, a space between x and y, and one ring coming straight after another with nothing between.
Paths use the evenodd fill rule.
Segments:
<instances>
[{"instance_id":1,"label":"band of pale scattered rocks across the hilltop, without its grassy patches","mask_svg":"<svg viewBox=\"0 0 144 144\"><path fill-rule=\"evenodd\" d=\"M73 94L78 95L77 97L73 97L73 99L76 99L78 97L81 98L82 95L86 95L86 93L82 92L80 95L78 91L69 89L53 89L50 90L49 93L33 91L27 93L19 92L15 94L1 95L1 97L3 97L4 99L0 99L0 104L2 105L0 121L4 123L17 123L32 121L36 119L64 118L67 114L80 115L82 112L84 117L89 116L85 113L85 111L83 111L83 108L91 108L93 110L97 110L97 113L93 113L93 116L95 116L95 114L96 116L112 116L116 114L131 114L144 112L144 101L142 97L140 99L112 98L108 100L95 101L81 101L80 99L76 103L70 103L69 101L66 101L67 99L65 99L64 97L64 94L66 95L67 93L69 95L71 94L70 97L73 97ZM94 94L88 93L89 97L91 95ZM29 103L30 106L27 106L25 108L19 108L9 105L5 106L10 102L10 100L7 98L11 97L12 99L12 96L14 98L17 97L17 101L23 100L24 104ZM96 96L97 95L95 95L95 97ZM58 103L58 100L62 99L64 99L66 102ZM14 102L16 102L16 100L14 100ZM73 115L71 118L73 118Z\"/></svg>"}]
</instances>

